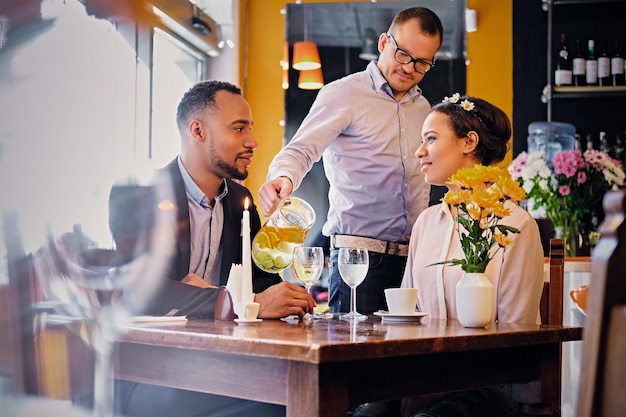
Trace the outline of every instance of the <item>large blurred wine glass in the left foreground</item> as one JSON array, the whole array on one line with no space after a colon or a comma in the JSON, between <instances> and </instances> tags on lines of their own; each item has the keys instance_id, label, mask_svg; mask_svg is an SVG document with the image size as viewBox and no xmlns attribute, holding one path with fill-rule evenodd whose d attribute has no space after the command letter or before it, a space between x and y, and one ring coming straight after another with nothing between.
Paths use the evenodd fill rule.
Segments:
<instances>
[{"instance_id":1,"label":"large blurred wine glass in the left foreground","mask_svg":"<svg viewBox=\"0 0 626 417\"><path fill-rule=\"evenodd\" d=\"M84 321L95 350L95 417L113 415L112 350L144 314L175 253L176 206L169 177L81 176L51 185L33 264L58 313Z\"/></svg>"}]
</instances>

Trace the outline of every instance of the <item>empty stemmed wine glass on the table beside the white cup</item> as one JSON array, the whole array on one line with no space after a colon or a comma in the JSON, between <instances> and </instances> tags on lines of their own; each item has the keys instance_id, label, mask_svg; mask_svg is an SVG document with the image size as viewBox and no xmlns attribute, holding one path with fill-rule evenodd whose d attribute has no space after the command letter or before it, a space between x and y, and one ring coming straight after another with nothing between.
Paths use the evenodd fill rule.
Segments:
<instances>
[{"instance_id":1,"label":"empty stemmed wine glass on the table beside the white cup","mask_svg":"<svg viewBox=\"0 0 626 417\"><path fill-rule=\"evenodd\" d=\"M339 273L341 279L350 287L350 312L339 316L347 320L363 320L367 316L356 311L356 287L358 287L369 270L369 254L363 248L339 249Z\"/></svg>"}]
</instances>

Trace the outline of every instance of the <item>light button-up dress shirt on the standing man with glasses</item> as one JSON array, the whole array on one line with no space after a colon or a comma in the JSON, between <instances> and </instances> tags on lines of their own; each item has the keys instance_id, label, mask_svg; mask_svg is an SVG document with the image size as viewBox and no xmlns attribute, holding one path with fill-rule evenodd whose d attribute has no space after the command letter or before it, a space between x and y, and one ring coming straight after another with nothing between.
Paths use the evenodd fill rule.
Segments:
<instances>
[{"instance_id":1,"label":"light button-up dress shirt on the standing man with glasses","mask_svg":"<svg viewBox=\"0 0 626 417\"><path fill-rule=\"evenodd\" d=\"M324 86L293 139L273 159L268 180L289 177L294 189L322 158L330 183L324 235L408 241L428 207L415 151L430 104L419 87L398 102L376 66Z\"/></svg>"}]
</instances>

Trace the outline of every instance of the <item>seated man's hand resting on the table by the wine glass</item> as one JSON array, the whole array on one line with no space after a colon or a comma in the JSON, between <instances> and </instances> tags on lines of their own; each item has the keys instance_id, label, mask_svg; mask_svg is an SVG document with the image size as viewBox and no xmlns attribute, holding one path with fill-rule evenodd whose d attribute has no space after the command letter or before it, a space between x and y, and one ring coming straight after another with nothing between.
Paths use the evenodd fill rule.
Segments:
<instances>
[{"instance_id":1,"label":"seated man's hand resting on the table by the wine glass","mask_svg":"<svg viewBox=\"0 0 626 417\"><path fill-rule=\"evenodd\" d=\"M307 312L313 314L315 308L315 301L304 288L287 281L256 294L254 301L261 304L259 317L263 319L279 319L292 314L302 317Z\"/></svg>"}]
</instances>

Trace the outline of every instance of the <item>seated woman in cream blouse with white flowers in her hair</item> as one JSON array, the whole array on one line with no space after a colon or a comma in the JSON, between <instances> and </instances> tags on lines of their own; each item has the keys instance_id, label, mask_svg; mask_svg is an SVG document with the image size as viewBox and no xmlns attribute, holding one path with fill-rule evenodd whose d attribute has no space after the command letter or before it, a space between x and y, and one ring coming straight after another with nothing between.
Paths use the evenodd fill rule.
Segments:
<instances>
[{"instance_id":1,"label":"seated woman in cream blouse with white flowers in her hair","mask_svg":"<svg viewBox=\"0 0 626 417\"><path fill-rule=\"evenodd\" d=\"M501 162L510 136L511 123L501 109L476 97L455 94L432 108L424 121L416 156L427 183L451 189L446 182L459 168ZM509 234L513 245L498 251L485 271L497 294L493 320L540 323L543 249L539 229L517 204L507 203L507 207L511 214L502 223L520 233ZM442 203L422 212L413 226L402 286L419 289L419 307L429 317L457 319L455 288L463 271L456 265L430 265L463 257L451 208ZM401 410L398 401L385 407L370 403L359 407L355 417L515 416L517 404L507 388L405 398ZM384 411L376 414L368 411L368 406Z\"/></svg>"}]
</instances>

